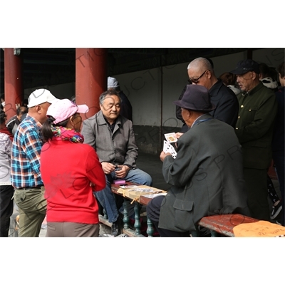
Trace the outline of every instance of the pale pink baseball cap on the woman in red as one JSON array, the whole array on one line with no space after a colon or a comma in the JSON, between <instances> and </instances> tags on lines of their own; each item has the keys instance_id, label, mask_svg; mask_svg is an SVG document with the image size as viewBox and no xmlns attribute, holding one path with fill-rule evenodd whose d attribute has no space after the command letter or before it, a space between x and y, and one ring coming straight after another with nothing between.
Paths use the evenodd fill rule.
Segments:
<instances>
[{"instance_id":1,"label":"pale pink baseball cap on the woman in red","mask_svg":"<svg viewBox=\"0 0 285 285\"><path fill-rule=\"evenodd\" d=\"M55 103L51 104L48 107L46 116L52 116L56 120L53 121L53 124L58 124L63 122L68 118L71 118L75 113L87 113L89 110L87 105L76 105L71 100L62 99L58 100Z\"/></svg>"}]
</instances>

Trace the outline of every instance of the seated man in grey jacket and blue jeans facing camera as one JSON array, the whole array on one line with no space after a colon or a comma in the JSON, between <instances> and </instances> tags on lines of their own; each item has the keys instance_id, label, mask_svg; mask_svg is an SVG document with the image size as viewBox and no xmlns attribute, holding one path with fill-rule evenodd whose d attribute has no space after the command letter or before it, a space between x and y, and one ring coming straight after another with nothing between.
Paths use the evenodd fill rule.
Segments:
<instances>
[{"instance_id":1,"label":"seated man in grey jacket and blue jeans facing camera","mask_svg":"<svg viewBox=\"0 0 285 285\"><path fill-rule=\"evenodd\" d=\"M115 179L152 185L152 178L136 167L138 147L133 123L120 115L121 99L115 90L100 95L100 111L83 121L84 143L94 147L106 177L106 187L95 195L113 223L114 236L120 234L120 219L111 184Z\"/></svg>"}]
</instances>

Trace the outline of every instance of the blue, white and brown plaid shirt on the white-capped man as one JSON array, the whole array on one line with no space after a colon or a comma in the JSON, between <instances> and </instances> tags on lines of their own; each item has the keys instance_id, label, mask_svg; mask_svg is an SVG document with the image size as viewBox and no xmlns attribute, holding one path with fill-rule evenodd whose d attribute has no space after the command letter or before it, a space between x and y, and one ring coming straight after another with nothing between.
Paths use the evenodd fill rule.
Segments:
<instances>
[{"instance_id":1,"label":"blue, white and brown plaid shirt on the white-capped man","mask_svg":"<svg viewBox=\"0 0 285 285\"><path fill-rule=\"evenodd\" d=\"M40 154L43 140L41 123L27 115L14 135L11 151L11 182L13 187L43 185L40 172Z\"/></svg>"}]
</instances>

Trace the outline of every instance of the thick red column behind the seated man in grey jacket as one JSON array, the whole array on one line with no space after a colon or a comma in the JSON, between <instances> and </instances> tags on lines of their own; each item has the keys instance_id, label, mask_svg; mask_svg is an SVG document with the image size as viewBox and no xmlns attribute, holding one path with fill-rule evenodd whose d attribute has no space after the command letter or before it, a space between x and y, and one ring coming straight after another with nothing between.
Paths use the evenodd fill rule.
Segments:
<instances>
[{"instance_id":1,"label":"thick red column behind the seated man in grey jacket","mask_svg":"<svg viewBox=\"0 0 285 285\"><path fill-rule=\"evenodd\" d=\"M107 90L107 48L76 48L76 104L86 104L90 118L100 110L99 96Z\"/></svg>"}]
</instances>

